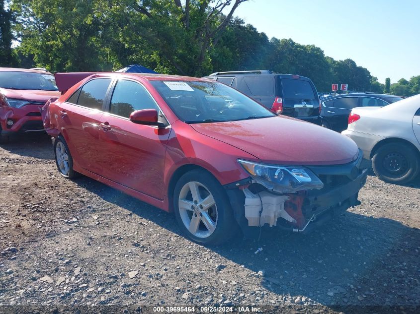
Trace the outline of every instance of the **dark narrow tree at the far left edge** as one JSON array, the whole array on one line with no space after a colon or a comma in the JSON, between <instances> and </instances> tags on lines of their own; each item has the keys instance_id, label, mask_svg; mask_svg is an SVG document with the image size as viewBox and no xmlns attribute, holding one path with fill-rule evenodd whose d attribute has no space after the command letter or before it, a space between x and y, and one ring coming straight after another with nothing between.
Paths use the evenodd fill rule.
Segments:
<instances>
[{"instance_id":1,"label":"dark narrow tree at the far left edge","mask_svg":"<svg viewBox=\"0 0 420 314\"><path fill-rule=\"evenodd\" d=\"M7 0L0 0L0 66L13 66L16 63L11 48L14 12L6 8L8 6Z\"/></svg>"}]
</instances>

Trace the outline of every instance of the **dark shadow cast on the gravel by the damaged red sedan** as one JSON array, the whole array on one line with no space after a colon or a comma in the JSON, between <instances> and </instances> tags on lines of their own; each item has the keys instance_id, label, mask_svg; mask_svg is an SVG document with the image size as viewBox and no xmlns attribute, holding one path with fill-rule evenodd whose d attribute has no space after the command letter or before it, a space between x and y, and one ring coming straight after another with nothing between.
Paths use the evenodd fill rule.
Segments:
<instances>
[{"instance_id":1,"label":"dark shadow cast on the gravel by the damaged red sedan","mask_svg":"<svg viewBox=\"0 0 420 314\"><path fill-rule=\"evenodd\" d=\"M180 233L171 214L88 178L77 183ZM237 241L211 249L254 271L255 280L279 296L304 296L324 305L419 305L419 244L419 229L346 212L309 235L267 228L259 243ZM258 247L263 251L254 254Z\"/></svg>"}]
</instances>

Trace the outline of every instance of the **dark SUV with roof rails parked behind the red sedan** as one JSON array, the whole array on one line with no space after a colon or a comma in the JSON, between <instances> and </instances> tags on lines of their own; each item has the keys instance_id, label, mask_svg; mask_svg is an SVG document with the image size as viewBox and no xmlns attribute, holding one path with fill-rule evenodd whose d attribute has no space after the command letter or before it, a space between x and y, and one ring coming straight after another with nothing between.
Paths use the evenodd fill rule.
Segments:
<instances>
[{"instance_id":1,"label":"dark SUV with roof rails parked behind the red sedan","mask_svg":"<svg viewBox=\"0 0 420 314\"><path fill-rule=\"evenodd\" d=\"M257 70L216 72L205 78L239 90L276 114L320 124L321 101L307 77Z\"/></svg>"}]
</instances>

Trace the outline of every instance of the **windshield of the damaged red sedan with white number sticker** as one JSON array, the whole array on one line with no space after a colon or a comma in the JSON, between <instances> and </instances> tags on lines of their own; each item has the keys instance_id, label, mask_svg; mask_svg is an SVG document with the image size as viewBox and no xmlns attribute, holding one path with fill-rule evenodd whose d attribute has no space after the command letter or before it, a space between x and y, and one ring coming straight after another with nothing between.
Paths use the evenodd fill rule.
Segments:
<instances>
[{"instance_id":1,"label":"windshield of the damaged red sedan with white number sticker","mask_svg":"<svg viewBox=\"0 0 420 314\"><path fill-rule=\"evenodd\" d=\"M175 115L185 123L211 123L274 117L237 90L217 82L152 81Z\"/></svg>"}]
</instances>

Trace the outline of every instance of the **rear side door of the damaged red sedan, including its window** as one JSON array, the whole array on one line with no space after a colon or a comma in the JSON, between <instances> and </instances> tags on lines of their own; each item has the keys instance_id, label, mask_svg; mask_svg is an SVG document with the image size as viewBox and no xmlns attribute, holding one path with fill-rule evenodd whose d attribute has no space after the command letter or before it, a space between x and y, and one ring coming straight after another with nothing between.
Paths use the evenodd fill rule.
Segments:
<instances>
[{"instance_id":1,"label":"rear side door of the damaged red sedan, including its window","mask_svg":"<svg viewBox=\"0 0 420 314\"><path fill-rule=\"evenodd\" d=\"M82 168L100 174L98 139L104 99L110 78L94 78L60 105L62 128L74 161Z\"/></svg>"}]
</instances>

